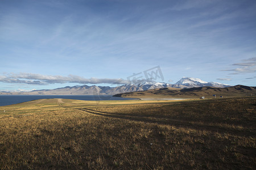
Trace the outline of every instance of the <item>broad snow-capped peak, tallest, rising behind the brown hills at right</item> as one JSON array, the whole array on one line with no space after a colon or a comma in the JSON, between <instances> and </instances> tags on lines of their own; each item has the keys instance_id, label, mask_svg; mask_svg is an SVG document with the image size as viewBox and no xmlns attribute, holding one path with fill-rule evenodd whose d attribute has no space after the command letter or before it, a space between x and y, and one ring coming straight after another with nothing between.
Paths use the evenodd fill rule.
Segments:
<instances>
[{"instance_id":1,"label":"broad snow-capped peak, tallest, rising behind the brown hills at right","mask_svg":"<svg viewBox=\"0 0 256 170\"><path fill-rule=\"evenodd\" d=\"M192 78L192 77L184 77L181 78L177 83L172 84L172 87L176 88L192 88L192 87L204 87L204 86L211 86L211 87L230 87L228 84L222 84L217 82L205 82L199 78Z\"/></svg>"}]
</instances>

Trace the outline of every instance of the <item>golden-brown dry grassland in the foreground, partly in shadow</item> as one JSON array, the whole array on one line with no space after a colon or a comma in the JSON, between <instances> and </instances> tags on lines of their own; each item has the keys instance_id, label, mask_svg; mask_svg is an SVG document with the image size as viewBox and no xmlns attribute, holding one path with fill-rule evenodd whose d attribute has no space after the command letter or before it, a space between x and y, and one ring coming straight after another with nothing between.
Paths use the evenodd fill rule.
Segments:
<instances>
[{"instance_id":1,"label":"golden-brown dry grassland in the foreground, partly in shadow","mask_svg":"<svg viewBox=\"0 0 256 170\"><path fill-rule=\"evenodd\" d=\"M255 169L256 97L0 107L0 169Z\"/></svg>"}]
</instances>

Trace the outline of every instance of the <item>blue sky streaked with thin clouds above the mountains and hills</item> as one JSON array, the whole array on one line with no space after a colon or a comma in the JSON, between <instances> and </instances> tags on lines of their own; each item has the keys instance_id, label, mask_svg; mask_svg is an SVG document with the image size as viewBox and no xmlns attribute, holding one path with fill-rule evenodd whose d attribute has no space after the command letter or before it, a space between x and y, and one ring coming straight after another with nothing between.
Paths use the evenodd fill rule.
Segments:
<instances>
[{"instance_id":1,"label":"blue sky streaked with thin clouds above the mountains and hills","mask_svg":"<svg viewBox=\"0 0 256 170\"><path fill-rule=\"evenodd\" d=\"M146 73L256 86L255 9L254 0L0 0L0 91L121 86Z\"/></svg>"}]
</instances>

